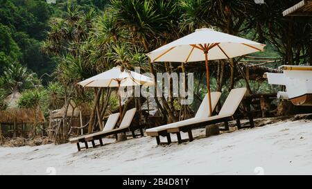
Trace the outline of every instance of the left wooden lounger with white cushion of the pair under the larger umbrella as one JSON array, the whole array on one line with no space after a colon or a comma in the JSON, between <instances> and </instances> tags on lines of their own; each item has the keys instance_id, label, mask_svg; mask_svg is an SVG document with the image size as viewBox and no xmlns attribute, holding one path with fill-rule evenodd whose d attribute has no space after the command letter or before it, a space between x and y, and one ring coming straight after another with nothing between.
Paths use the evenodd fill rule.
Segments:
<instances>
[{"instance_id":1,"label":"left wooden lounger with white cushion of the pair under the larger umbrella","mask_svg":"<svg viewBox=\"0 0 312 189\"><path fill-rule=\"evenodd\" d=\"M220 92L212 92L211 93L211 107L212 111L214 111L214 108L218 104L218 101L220 99L221 93ZM198 108L198 111L196 112L196 115L194 118L189 118L187 120L182 120L179 122L162 125L159 127L154 127L151 129L146 129L146 134L148 136L155 136L157 145L159 144L170 144L171 143L171 137L170 134L168 134L167 129L170 127L177 127L180 125L189 125L192 123L196 123L198 120L201 120L202 118L208 118L209 113L209 107L208 107L208 94L206 94L205 98L202 100L202 103L200 104L200 107ZM167 137L167 143L160 143L159 136L166 136Z\"/></svg>"}]
</instances>

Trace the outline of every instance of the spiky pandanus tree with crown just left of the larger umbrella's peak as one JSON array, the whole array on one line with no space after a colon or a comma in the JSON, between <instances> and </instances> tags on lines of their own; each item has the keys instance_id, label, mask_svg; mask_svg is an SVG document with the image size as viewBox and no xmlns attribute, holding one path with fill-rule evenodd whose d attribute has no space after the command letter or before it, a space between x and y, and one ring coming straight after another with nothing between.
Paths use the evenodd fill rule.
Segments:
<instances>
[{"instance_id":1,"label":"spiky pandanus tree with crown just left of the larger umbrella's peak","mask_svg":"<svg viewBox=\"0 0 312 189\"><path fill-rule=\"evenodd\" d=\"M171 20L168 19L168 12L166 12L166 16L162 15L164 14L164 10L168 10L168 6L165 5L165 2L166 1L112 0L110 10L112 11L112 15L116 18L116 26L129 33L129 38L132 39L133 44L144 46L145 52L148 52L150 49L156 48L157 45L162 44L162 42L159 42L159 39L162 39L162 33L166 30L163 29L168 28L168 25L171 24ZM164 8L164 10L160 10L159 8ZM171 8L173 8L173 6ZM173 10L170 10L170 12L174 15ZM166 31L168 32L168 30ZM150 73L155 75L152 63L150 63ZM156 80L155 86L157 87ZM162 100L164 109L160 105L158 99L155 98L159 109L162 109L163 114L168 115L168 118L176 121L177 117L173 114L174 109L169 107L164 96L160 97L160 100Z\"/></svg>"}]
</instances>

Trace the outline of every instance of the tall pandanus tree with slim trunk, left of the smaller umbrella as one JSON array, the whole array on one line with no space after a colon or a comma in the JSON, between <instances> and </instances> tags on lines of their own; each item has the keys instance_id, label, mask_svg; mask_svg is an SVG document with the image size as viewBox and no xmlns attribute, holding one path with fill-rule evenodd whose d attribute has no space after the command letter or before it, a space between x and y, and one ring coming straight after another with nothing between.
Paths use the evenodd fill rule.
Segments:
<instances>
[{"instance_id":1,"label":"tall pandanus tree with slim trunk, left of the smaller umbrella","mask_svg":"<svg viewBox=\"0 0 312 189\"><path fill-rule=\"evenodd\" d=\"M58 65L53 76L62 84L64 89L64 106L62 127L67 127L67 109L71 100L76 100L85 95L84 90L78 87L80 80L96 73L96 61L92 58L94 48L89 43L89 33L93 28L94 10L81 12L77 7L69 7L64 19L56 21L48 33L44 50L58 56ZM61 125L58 125L55 142L62 143L67 138L67 133L58 134ZM60 136L58 138L58 136ZM60 139L60 140L58 140Z\"/></svg>"}]
</instances>

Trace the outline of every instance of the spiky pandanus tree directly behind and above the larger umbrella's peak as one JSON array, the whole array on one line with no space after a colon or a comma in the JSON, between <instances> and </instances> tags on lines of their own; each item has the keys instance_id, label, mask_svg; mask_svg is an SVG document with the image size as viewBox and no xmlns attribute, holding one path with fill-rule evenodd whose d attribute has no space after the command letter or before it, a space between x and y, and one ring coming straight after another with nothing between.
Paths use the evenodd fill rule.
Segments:
<instances>
[{"instance_id":1,"label":"spiky pandanus tree directly behind and above the larger umbrella's peak","mask_svg":"<svg viewBox=\"0 0 312 189\"><path fill-rule=\"evenodd\" d=\"M182 11L180 28L193 32L200 27L214 27L223 33L238 35L245 28L244 23L248 19L249 11L254 5L253 1L230 1L230 0L181 0ZM224 82L225 60L218 61L217 91L220 91ZM234 87L234 72L236 61L229 60L229 89ZM248 85L248 82L246 83ZM250 91L251 92L251 91Z\"/></svg>"}]
</instances>

